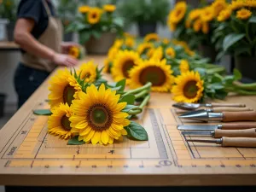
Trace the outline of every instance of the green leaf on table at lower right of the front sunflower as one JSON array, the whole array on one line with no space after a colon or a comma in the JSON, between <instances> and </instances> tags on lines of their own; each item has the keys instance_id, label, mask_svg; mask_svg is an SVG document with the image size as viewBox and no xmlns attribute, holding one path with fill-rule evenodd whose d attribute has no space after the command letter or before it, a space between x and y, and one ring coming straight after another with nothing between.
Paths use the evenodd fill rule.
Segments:
<instances>
[{"instance_id":1,"label":"green leaf on table at lower right of the front sunflower","mask_svg":"<svg viewBox=\"0 0 256 192\"><path fill-rule=\"evenodd\" d=\"M148 141L148 133L143 126L138 125L136 122L131 121L131 124L125 126L128 137L134 138L138 141Z\"/></svg>"}]
</instances>

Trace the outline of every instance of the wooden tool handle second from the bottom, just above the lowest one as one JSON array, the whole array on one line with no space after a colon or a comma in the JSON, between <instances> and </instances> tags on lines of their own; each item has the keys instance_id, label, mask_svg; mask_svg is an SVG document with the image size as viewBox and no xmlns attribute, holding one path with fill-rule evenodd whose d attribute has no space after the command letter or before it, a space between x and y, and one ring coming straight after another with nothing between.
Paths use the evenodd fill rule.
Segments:
<instances>
[{"instance_id":1,"label":"wooden tool handle second from the bottom, just above the lowest one","mask_svg":"<svg viewBox=\"0 0 256 192\"><path fill-rule=\"evenodd\" d=\"M256 137L256 128L247 130L215 130L214 138L221 137Z\"/></svg>"}]
</instances>

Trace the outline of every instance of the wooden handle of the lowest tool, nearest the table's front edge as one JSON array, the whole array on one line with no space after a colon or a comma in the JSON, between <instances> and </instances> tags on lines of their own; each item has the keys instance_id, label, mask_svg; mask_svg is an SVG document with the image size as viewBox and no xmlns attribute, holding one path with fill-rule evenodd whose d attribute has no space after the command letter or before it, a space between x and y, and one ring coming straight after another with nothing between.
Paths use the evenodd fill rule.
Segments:
<instances>
[{"instance_id":1,"label":"wooden handle of the lowest tool, nearest the table's front edge","mask_svg":"<svg viewBox=\"0 0 256 192\"><path fill-rule=\"evenodd\" d=\"M223 147L245 147L245 148L255 148L256 138L247 137L222 137Z\"/></svg>"}]
</instances>

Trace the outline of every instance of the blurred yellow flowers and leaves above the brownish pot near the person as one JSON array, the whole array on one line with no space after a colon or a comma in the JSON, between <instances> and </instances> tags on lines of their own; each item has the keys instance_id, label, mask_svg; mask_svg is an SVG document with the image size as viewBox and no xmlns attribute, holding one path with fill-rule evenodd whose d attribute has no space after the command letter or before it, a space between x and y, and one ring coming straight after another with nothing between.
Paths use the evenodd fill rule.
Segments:
<instances>
[{"instance_id":1,"label":"blurred yellow flowers and leaves above the brownish pot near the person","mask_svg":"<svg viewBox=\"0 0 256 192\"><path fill-rule=\"evenodd\" d=\"M79 16L67 26L67 32L79 32L80 43L84 44L91 37L101 38L103 32L122 32L124 21L115 14L115 5L103 7L79 7Z\"/></svg>"}]
</instances>

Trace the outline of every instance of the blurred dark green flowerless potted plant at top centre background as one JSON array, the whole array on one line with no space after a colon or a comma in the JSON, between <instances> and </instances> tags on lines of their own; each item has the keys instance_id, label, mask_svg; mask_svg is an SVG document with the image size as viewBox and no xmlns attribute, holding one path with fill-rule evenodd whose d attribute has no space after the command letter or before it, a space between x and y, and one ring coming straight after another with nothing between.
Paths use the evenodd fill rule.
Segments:
<instances>
[{"instance_id":1,"label":"blurred dark green flowerless potted plant at top centre background","mask_svg":"<svg viewBox=\"0 0 256 192\"><path fill-rule=\"evenodd\" d=\"M119 3L119 13L127 24L136 22L140 36L144 37L148 33L156 32L159 22L166 24L169 7L167 0L129 0Z\"/></svg>"}]
</instances>

